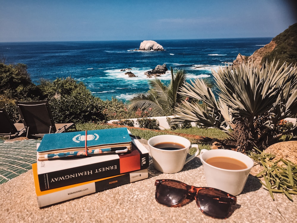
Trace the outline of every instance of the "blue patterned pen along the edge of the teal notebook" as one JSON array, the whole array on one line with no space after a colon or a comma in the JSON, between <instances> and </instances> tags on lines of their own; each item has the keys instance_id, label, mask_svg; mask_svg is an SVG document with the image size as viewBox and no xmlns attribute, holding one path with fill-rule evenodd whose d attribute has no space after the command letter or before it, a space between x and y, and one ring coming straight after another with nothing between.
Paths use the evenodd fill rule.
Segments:
<instances>
[{"instance_id":1,"label":"blue patterned pen along the edge of the teal notebook","mask_svg":"<svg viewBox=\"0 0 297 223\"><path fill-rule=\"evenodd\" d=\"M95 156L95 155L103 155L103 154L119 154L119 153L127 153L127 147L113 147L106 149L88 149L80 151L72 151L72 152L64 152L64 153L50 153L45 154L44 156L39 156L38 160L52 160L52 159L61 159L61 158L75 158L82 156Z\"/></svg>"}]
</instances>

